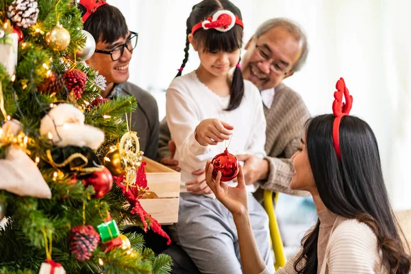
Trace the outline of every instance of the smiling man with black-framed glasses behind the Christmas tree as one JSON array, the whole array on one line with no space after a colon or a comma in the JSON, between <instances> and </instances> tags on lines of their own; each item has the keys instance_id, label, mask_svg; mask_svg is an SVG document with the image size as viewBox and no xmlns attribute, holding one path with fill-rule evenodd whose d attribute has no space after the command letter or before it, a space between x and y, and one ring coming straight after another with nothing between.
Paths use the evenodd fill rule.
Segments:
<instances>
[{"instance_id":1,"label":"smiling man with black-framed glasses behind the Christmas tree","mask_svg":"<svg viewBox=\"0 0 411 274\"><path fill-rule=\"evenodd\" d=\"M136 97L138 107L132 112L132 131L137 132L140 149L148 158L155 159L159 131L157 102L149 92L127 82L138 34L130 32L120 10L105 1L81 0L79 9L83 14L84 30L96 40L95 53L86 63L107 81L101 96L109 99L119 95Z\"/></svg>"}]
</instances>

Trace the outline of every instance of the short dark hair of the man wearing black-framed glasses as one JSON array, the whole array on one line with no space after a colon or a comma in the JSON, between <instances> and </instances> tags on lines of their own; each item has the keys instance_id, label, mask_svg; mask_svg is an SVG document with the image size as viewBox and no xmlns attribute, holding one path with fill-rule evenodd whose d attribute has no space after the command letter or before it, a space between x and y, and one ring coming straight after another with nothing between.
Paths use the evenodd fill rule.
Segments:
<instances>
[{"instance_id":1,"label":"short dark hair of the man wearing black-framed glasses","mask_svg":"<svg viewBox=\"0 0 411 274\"><path fill-rule=\"evenodd\" d=\"M82 4L77 4L77 7L83 16L86 8ZM128 34L123 14L112 5L101 5L92 13L84 23L84 30L90 32L96 43L101 41L110 44L120 38L126 38Z\"/></svg>"}]
</instances>

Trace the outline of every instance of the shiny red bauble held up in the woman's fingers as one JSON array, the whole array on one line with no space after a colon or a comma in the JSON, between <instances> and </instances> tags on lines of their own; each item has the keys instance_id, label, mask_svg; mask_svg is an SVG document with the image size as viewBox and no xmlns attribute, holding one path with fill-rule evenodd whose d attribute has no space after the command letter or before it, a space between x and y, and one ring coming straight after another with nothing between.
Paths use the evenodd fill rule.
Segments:
<instances>
[{"instance_id":1,"label":"shiny red bauble held up in the woman's fingers","mask_svg":"<svg viewBox=\"0 0 411 274\"><path fill-rule=\"evenodd\" d=\"M223 153L216 155L211 163L213 166L212 177L215 179L217 173L221 171L221 182L231 181L238 174L238 160L236 156L228 153L227 149Z\"/></svg>"}]
</instances>

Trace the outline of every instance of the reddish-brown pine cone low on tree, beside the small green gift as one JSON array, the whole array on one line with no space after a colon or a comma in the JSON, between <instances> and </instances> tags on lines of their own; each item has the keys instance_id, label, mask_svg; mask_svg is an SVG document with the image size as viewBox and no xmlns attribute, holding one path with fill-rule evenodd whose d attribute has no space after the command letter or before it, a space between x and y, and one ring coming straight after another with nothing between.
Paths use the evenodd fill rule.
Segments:
<instances>
[{"instance_id":1,"label":"reddish-brown pine cone low on tree, beside the small green gift","mask_svg":"<svg viewBox=\"0 0 411 274\"><path fill-rule=\"evenodd\" d=\"M79 225L71 229L70 250L80 262L89 260L100 241L100 235L91 225Z\"/></svg>"}]
</instances>

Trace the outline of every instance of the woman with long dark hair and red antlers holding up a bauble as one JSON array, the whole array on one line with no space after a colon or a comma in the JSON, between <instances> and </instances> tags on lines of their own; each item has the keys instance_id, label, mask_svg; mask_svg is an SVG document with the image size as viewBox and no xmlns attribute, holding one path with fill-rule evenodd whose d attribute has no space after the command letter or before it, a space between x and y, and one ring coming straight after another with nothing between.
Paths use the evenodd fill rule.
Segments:
<instances>
[{"instance_id":1,"label":"woman with long dark hair and red antlers holding up a bauble","mask_svg":"<svg viewBox=\"0 0 411 274\"><path fill-rule=\"evenodd\" d=\"M411 259L388 201L377 140L366 122L349 116L353 99L343 78L336 88L334 114L307 121L291 158L290 187L311 192L319 220L276 273L409 273ZM242 170L236 188L221 184L221 175L214 181L209 162L206 173L208 186L234 216L244 273L269 273L250 229Z\"/></svg>"}]
</instances>

